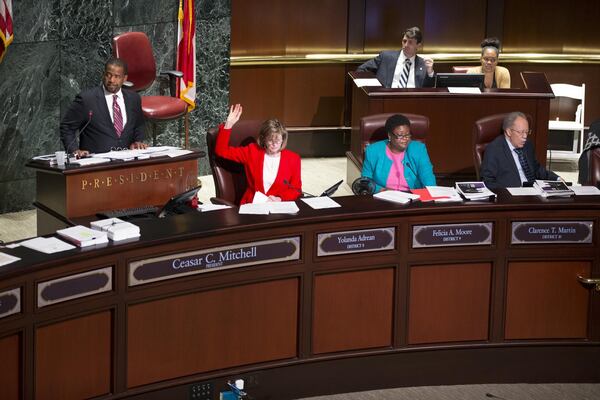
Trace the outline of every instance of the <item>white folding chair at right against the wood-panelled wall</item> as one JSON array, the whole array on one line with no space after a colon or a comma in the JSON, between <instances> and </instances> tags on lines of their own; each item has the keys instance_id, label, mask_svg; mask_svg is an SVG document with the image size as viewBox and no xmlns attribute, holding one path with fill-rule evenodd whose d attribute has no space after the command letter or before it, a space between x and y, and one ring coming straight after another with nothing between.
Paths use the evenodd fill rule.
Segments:
<instances>
[{"instance_id":1,"label":"white folding chair at right against the wood-panelled wall","mask_svg":"<svg viewBox=\"0 0 600 400\"><path fill-rule=\"evenodd\" d=\"M550 85L554 96L560 102L561 98L570 98L578 101L577 110L575 111L573 120L553 120L548 121L548 129L552 131L569 131L573 132L573 149L569 152L558 152L559 155L579 156L581 154L580 147L583 146L584 135L584 111L585 111L585 83L581 86L570 85L566 83L553 83Z\"/></svg>"}]
</instances>

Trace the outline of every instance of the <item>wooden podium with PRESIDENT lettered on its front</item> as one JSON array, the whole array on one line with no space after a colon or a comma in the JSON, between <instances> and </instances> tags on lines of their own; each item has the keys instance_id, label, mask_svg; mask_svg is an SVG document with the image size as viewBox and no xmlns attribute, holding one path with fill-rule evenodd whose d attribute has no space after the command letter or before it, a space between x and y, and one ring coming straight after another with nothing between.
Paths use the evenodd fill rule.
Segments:
<instances>
[{"instance_id":1,"label":"wooden podium with PRESIDENT lettered on its front","mask_svg":"<svg viewBox=\"0 0 600 400\"><path fill-rule=\"evenodd\" d=\"M111 161L87 167L58 167L29 161L36 171L37 234L54 233L71 219L98 211L161 206L172 196L196 187L198 158L204 152L170 158Z\"/></svg>"}]
</instances>

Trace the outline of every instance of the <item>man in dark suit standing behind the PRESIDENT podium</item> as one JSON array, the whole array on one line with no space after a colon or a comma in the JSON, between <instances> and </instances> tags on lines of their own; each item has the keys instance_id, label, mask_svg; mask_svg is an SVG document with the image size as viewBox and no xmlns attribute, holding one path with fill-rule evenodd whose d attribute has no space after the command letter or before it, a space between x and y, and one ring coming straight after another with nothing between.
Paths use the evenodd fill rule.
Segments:
<instances>
[{"instance_id":1,"label":"man in dark suit standing behind the PRESIDENT podium","mask_svg":"<svg viewBox=\"0 0 600 400\"><path fill-rule=\"evenodd\" d=\"M111 58L104 65L102 85L79 93L60 123L67 153L83 157L114 149L145 149L140 95L122 89L127 63ZM79 143L77 143L77 135Z\"/></svg>"}]
</instances>

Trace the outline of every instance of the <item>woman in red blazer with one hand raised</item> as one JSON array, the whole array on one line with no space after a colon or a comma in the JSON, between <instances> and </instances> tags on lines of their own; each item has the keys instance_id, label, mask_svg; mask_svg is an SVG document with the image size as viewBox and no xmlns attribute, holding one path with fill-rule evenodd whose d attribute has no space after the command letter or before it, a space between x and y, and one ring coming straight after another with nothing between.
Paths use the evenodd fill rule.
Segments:
<instances>
[{"instance_id":1,"label":"woman in red blazer with one hand raised","mask_svg":"<svg viewBox=\"0 0 600 400\"><path fill-rule=\"evenodd\" d=\"M287 130L276 119L266 120L258 135L258 144L242 147L229 146L231 128L239 121L242 106L231 106L227 121L219 126L215 152L244 165L247 189L240 204L252 203L256 192L265 194L269 201L296 200L302 194L300 156L286 150Z\"/></svg>"}]
</instances>

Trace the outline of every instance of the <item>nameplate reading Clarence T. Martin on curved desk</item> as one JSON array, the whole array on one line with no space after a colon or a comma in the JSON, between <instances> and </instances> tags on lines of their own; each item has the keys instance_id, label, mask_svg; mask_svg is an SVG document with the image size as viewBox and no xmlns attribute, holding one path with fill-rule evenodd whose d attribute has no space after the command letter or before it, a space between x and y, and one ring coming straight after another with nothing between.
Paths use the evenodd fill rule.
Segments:
<instances>
[{"instance_id":1,"label":"nameplate reading Clarence T. Martin on curved desk","mask_svg":"<svg viewBox=\"0 0 600 400\"><path fill-rule=\"evenodd\" d=\"M592 243L593 221L515 221L511 244Z\"/></svg>"}]
</instances>

